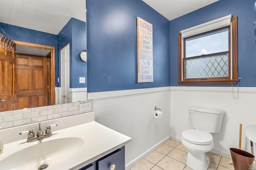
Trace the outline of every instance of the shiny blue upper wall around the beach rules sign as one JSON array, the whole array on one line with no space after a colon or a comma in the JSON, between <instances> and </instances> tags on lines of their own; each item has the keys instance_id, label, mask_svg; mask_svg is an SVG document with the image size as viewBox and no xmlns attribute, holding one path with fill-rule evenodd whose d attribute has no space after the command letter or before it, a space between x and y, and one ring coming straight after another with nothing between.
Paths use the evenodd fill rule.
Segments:
<instances>
[{"instance_id":1,"label":"shiny blue upper wall around the beach rules sign","mask_svg":"<svg viewBox=\"0 0 256 170\"><path fill-rule=\"evenodd\" d=\"M169 20L142 0L86 0L88 92L170 86ZM154 82L137 83L136 17L153 24Z\"/></svg>"}]
</instances>

